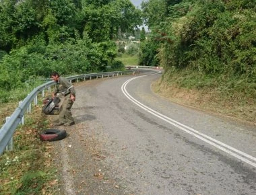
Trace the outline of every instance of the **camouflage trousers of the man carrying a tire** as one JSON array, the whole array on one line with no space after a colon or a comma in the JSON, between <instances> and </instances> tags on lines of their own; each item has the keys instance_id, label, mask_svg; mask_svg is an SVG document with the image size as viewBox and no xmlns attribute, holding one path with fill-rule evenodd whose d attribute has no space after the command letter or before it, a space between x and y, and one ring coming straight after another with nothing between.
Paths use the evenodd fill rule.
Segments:
<instances>
[{"instance_id":1,"label":"camouflage trousers of the man carrying a tire","mask_svg":"<svg viewBox=\"0 0 256 195\"><path fill-rule=\"evenodd\" d=\"M71 108L73 106L73 101L71 100L70 96L67 95L64 97L63 103L61 104L61 108L59 109L59 122L63 123L71 123L74 122Z\"/></svg>"}]
</instances>

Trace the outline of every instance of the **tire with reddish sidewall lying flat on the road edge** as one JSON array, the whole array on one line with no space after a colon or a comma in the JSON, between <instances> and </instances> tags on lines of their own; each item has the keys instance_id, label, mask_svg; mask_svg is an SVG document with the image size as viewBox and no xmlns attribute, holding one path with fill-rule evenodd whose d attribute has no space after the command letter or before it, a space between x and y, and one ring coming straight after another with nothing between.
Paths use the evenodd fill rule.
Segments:
<instances>
[{"instance_id":1,"label":"tire with reddish sidewall lying flat on the road edge","mask_svg":"<svg viewBox=\"0 0 256 195\"><path fill-rule=\"evenodd\" d=\"M44 132L40 133L41 141L59 141L67 137L67 132L65 130L59 129L46 129Z\"/></svg>"}]
</instances>

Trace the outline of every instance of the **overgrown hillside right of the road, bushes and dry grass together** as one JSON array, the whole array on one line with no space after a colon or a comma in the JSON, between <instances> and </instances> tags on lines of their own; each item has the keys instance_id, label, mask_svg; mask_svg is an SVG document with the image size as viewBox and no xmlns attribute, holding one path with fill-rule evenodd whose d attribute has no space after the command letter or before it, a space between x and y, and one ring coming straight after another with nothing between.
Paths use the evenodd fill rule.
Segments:
<instances>
[{"instance_id":1,"label":"overgrown hillside right of the road, bushes and dry grass together","mask_svg":"<svg viewBox=\"0 0 256 195\"><path fill-rule=\"evenodd\" d=\"M197 91L195 105L210 100L218 112L255 122L253 1L150 0L142 9L152 33L141 45L141 62L166 69L158 91L182 89L187 97Z\"/></svg>"}]
</instances>

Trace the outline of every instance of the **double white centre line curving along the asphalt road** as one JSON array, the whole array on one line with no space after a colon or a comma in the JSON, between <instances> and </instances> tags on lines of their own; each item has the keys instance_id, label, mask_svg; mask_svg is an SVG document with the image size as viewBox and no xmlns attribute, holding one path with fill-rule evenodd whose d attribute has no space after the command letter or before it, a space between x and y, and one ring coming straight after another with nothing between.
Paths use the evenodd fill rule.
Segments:
<instances>
[{"instance_id":1,"label":"double white centre line curving along the asphalt road","mask_svg":"<svg viewBox=\"0 0 256 195\"><path fill-rule=\"evenodd\" d=\"M160 73L161 71L158 71L157 73L153 73L150 75L156 75L158 73ZM143 75L143 76L139 76L139 77L133 77L131 79L128 79L127 81L125 81L125 83L123 83L121 89L123 91L123 93L125 94L125 96L131 100L131 102L133 102L134 104L136 104L137 106L139 106L140 108L142 108L143 110L146 110L147 112L150 112L150 114L153 114L154 116L168 122L169 124L172 124L173 126L176 126L177 128L192 134L194 137L197 137L198 139L201 139L202 141L205 141L205 143L208 143L226 153L228 153L229 155L232 155L233 157L236 157L237 159L240 159L241 161L244 161L246 163L248 163L249 165L252 165L253 167L256 167L256 158L248 155L247 153L244 153L242 151L239 151L238 149L235 149L233 147L230 147L229 145L226 145L225 143L222 143L216 139L213 139L212 137L207 136L206 134L203 134L189 126L186 126L185 124L182 124L181 122L178 122L176 120L173 120L172 118L168 118L168 116L165 116L163 114L160 114L159 112L156 112L155 110L149 108L148 106L142 104L141 102L135 100L135 98L133 98L126 89L127 84L130 81L133 81L134 79L138 79L141 77L147 77L150 75Z\"/></svg>"}]
</instances>

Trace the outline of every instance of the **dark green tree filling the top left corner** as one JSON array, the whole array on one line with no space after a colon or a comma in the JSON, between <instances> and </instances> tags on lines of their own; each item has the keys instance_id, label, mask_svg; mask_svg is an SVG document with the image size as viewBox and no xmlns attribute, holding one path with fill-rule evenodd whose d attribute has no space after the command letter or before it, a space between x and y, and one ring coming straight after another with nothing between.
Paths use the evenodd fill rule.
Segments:
<instances>
[{"instance_id":1,"label":"dark green tree filling the top left corner","mask_svg":"<svg viewBox=\"0 0 256 195\"><path fill-rule=\"evenodd\" d=\"M9 52L11 48L26 45L41 29L46 14L46 0L0 1L0 49Z\"/></svg>"}]
</instances>

